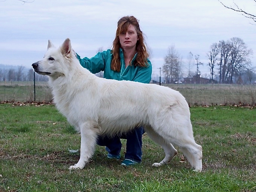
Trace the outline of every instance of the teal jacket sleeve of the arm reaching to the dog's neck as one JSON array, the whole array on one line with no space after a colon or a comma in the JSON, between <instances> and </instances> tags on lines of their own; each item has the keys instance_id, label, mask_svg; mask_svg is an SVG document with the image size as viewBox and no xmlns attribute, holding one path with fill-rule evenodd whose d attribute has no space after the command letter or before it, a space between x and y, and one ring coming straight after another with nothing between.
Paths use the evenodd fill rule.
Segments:
<instances>
[{"instance_id":1,"label":"teal jacket sleeve of the arm reaching to the dog's neck","mask_svg":"<svg viewBox=\"0 0 256 192\"><path fill-rule=\"evenodd\" d=\"M81 57L76 53L76 57L78 58L81 66L88 69L93 74L104 71L106 61L109 56L108 51L104 51L97 53L97 55L90 59L87 57L81 59Z\"/></svg>"}]
</instances>

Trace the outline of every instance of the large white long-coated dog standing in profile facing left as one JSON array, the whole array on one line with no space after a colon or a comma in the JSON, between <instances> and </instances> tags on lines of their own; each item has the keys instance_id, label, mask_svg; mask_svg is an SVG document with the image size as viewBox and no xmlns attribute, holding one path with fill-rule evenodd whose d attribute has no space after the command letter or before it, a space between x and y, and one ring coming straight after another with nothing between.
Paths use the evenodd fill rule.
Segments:
<instances>
[{"instance_id":1,"label":"large white long-coated dog standing in profile facing left","mask_svg":"<svg viewBox=\"0 0 256 192\"><path fill-rule=\"evenodd\" d=\"M56 107L81 133L80 159L70 169L84 168L98 135L127 132L141 125L165 151L165 158L153 166L174 158L174 144L196 171L202 170L202 147L195 143L189 106L178 91L98 78L80 65L69 39L58 49L48 41L43 60L32 67L38 74L49 76Z\"/></svg>"}]
</instances>

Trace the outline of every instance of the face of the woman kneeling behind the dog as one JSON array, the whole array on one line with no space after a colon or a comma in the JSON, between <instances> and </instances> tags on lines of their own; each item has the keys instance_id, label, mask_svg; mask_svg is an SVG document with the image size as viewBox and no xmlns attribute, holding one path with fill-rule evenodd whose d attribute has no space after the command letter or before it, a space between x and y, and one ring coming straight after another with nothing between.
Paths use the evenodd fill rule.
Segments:
<instances>
[{"instance_id":1,"label":"face of the woman kneeling behind the dog","mask_svg":"<svg viewBox=\"0 0 256 192\"><path fill-rule=\"evenodd\" d=\"M123 49L135 49L137 40L139 40L139 38L132 24L128 27L126 33L119 35L119 41Z\"/></svg>"}]
</instances>

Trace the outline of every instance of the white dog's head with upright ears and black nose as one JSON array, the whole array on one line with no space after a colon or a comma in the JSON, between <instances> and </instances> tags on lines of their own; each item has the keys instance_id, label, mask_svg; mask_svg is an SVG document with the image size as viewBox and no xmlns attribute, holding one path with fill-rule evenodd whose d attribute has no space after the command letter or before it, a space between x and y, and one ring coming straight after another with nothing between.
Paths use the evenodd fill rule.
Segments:
<instances>
[{"instance_id":1,"label":"white dog's head with upright ears and black nose","mask_svg":"<svg viewBox=\"0 0 256 192\"><path fill-rule=\"evenodd\" d=\"M74 50L71 48L70 39L67 38L59 48L55 48L48 40L47 52L41 61L32 64L35 72L40 75L48 75L52 78L64 76L71 59L76 59Z\"/></svg>"}]
</instances>

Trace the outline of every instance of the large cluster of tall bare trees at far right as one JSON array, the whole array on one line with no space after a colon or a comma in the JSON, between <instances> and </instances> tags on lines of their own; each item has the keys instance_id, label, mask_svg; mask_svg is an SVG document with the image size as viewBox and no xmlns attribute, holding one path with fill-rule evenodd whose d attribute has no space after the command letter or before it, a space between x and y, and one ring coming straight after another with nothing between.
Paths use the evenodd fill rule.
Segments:
<instances>
[{"instance_id":1,"label":"large cluster of tall bare trees at far right","mask_svg":"<svg viewBox=\"0 0 256 192\"><path fill-rule=\"evenodd\" d=\"M207 53L212 79L216 67L220 84L232 84L234 77L252 73L250 60L252 53L253 51L247 48L244 41L237 37L213 43Z\"/></svg>"}]
</instances>

